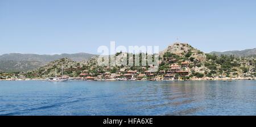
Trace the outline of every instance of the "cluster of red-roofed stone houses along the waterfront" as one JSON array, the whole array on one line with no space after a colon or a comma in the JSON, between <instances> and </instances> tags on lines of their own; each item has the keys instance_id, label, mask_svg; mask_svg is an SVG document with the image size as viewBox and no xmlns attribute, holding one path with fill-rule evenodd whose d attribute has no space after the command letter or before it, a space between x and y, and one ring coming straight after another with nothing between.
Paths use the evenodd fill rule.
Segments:
<instances>
[{"instance_id":1,"label":"cluster of red-roofed stone houses along the waterfront","mask_svg":"<svg viewBox=\"0 0 256 127\"><path fill-rule=\"evenodd\" d=\"M175 77L175 75L187 76L189 74L188 62L182 62L181 65L175 64L175 62L170 66L169 70L160 70L159 72L148 71L146 67L141 67L141 71L130 70L129 67L123 67L116 71L116 73L111 73L112 68L107 66L104 68L105 73L100 73L96 77L88 73L85 70L80 74L77 79L86 80L98 80L98 81L174 81L180 77ZM68 78L68 77L67 77Z\"/></svg>"}]
</instances>

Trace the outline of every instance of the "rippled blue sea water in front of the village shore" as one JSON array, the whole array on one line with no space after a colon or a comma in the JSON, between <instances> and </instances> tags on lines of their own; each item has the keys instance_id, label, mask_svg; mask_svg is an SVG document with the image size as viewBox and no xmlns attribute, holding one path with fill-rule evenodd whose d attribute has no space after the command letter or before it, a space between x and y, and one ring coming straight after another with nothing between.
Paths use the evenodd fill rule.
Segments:
<instances>
[{"instance_id":1,"label":"rippled blue sea water in front of the village shore","mask_svg":"<svg viewBox=\"0 0 256 127\"><path fill-rule=\"evenodd\" d=\"M1 81L0 115L256 115L256 82Z\"/></svg>"}]
</instances>

